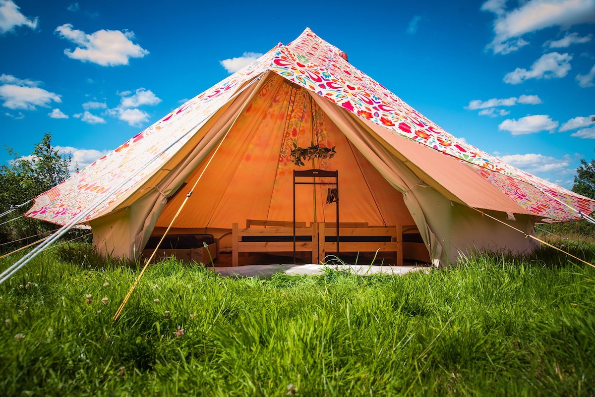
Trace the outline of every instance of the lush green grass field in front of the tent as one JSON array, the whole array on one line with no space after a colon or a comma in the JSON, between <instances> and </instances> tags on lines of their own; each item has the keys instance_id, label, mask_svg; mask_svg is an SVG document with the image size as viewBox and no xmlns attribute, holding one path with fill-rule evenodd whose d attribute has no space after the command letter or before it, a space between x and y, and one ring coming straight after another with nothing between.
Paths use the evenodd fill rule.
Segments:
<instances>
[{"instance_id":1,"label":"lush green grass field in front of the tent","mask_svg":"<svg viewBox=\"0 0 595 397\"><path fill-rule=\"evenodd\" d=\"M595 395L595 269L549 250L268 280L167 261L114 323L137 273L47 253L0 286L0 393Z\"/></svg>"}]
</instances>

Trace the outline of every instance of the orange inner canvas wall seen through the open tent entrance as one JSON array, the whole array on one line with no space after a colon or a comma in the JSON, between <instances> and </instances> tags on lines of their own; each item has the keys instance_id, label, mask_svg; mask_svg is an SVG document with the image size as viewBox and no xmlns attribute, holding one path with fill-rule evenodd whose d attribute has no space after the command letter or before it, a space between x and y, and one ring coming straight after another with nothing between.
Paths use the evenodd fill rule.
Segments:
<instances>
[{"instance_id":1,"label":"orange inner canvas wall seen through the open tent entrance","mask_svg":"<svg viewBox=\"0 0 595 397\"><path fill-rule=\"evenodd\" d=\"M342 223L414 225L402 193L387 182L309 93L273 74L245 107L209 168L199 165L187 173L183 183L192 186L204 171L171 233L213 234L221 237L221 250L226 251L233 248L228 233L234 223L243 226L247 220L293 219L306 225L336 223L336 209L326 203L327 185L313 185L312 194L297 194L294 216L292 175L306 167L296 166L290 155L295 144L308 147L312 143L336 148L332 159L311 159L306 167L341 172ZM184 194L168 198L154 234L169 225L184 198ZM287 251L291 253L292 248Z\"/></svg>"}]
</instances>

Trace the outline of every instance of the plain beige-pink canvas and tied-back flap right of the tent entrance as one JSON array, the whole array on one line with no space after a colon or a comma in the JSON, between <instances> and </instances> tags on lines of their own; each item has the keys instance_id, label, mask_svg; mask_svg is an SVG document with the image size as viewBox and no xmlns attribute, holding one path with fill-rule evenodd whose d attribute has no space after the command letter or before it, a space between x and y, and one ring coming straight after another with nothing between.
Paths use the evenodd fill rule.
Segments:
<instances>
[{"instance_id":1,"label":"plain beige-pink canvas and tied-back flap right of the tent entrance","mask_svg":"<svg viewBox=\"0 0 595 397\"><path fill-rule=\"evenodd\" d=\"M526 239L518 232L511 234L511 229L484 218L481 213L470 208L496 207L499 212L490 213L534 235L535 218L483 181L472 169L405 137L387 134L377 125L353 117L324 98L314 97L321 109L340 126L369 162L394 188L403 193L405 204L436 266L453 263L461 254L482 248L493 250L499 247L513 254L524 254L537 247L534 240ZM403 162L399 158L406 160ZM457 175L455 181L452 175ZM481 187L479 191L475 190L477 184ZM519 215L516 220L507 220L506 212Z\"/></svg>"}]
</instances>

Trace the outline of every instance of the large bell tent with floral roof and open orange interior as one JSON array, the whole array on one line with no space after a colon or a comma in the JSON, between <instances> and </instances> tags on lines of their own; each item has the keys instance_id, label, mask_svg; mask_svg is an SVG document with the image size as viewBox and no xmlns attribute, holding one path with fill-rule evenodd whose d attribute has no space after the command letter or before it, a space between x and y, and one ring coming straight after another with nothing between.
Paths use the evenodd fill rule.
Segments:
<instances>
[{"instance_id":1,"label":"large bell tent with floral roof and open orange interior","mask_svg":"<svg viewBox=\"0 0 595 397\"><path fill-rule=\"evenodd\" d=\"M339 171L342 222L415 223L437 266L536 247L475 209L526 234L595 209L453 137L344 57L306 29L37 197L27 216L89 225L101 251L129 257L174 218L174 232L291 220L293 141L336 147L305 168ZM297 220L334 222L324 189L297 195Z\"/></svg>"}]
</instances>

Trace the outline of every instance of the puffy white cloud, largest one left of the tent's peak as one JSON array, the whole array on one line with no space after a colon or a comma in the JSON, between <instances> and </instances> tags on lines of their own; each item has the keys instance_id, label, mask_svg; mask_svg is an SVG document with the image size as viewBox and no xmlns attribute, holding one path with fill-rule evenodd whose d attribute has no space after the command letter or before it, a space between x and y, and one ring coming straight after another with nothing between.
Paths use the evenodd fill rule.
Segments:
<instances>
[{"instance_id":1,"label":"puffy white cloud, largest one left of the tent's peak","mask_svg":"<svg viewBox=\"0 0 595 397\"><path fill-rule=\"evenodd\" d=\"M142 58L149 51L134 44L134 33L120 30L98 30L86 34L73 29L72 24L58 26L55 30L61 37L70 40L79 47L74 51L65 49L68 58L92 62L101 66L128 65L130 58Z\"/></svg>"}]
</instances>

